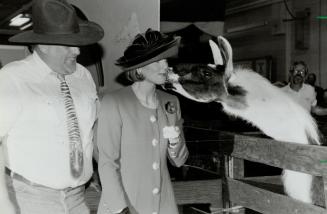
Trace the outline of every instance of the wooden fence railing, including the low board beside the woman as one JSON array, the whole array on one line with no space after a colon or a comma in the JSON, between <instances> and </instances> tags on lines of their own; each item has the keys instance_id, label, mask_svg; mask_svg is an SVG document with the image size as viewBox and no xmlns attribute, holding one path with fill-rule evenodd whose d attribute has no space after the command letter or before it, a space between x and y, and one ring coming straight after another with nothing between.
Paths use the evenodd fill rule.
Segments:
<instances>
[{"instance_id":1,"label":"wooden fence railing, including the low board beside the woman","mask_svg":"<svg viewBox=\"0 0 327 214\"><path fill-rule=\"evenodd\" d=\"M175 195L179 204L211 203L214 207L243 206L269 214L327 213L327 147L279 142L214 132L221 151L222 179L211 181L175 182ZM245 178L243 160L263 163L283 169L317 176L315 182L320 197L311 205L283 194L280 176ZM320 199L319 199L320 198Z\"/></svg>"}]
</instances>

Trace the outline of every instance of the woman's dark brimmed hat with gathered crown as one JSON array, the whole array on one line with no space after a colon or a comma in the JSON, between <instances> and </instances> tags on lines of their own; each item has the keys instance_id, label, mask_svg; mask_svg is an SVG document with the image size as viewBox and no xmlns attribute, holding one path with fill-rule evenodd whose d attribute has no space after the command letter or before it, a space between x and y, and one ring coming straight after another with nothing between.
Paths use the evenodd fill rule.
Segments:
<instances>
[{"instance_id":1,"label":"woman's dark brimmed hat with gathered crown","mask_svg":"<svg viewBox=\"0 0 327 214\"><path fill-rule=\"evenodd\" d=\"M124 51L124 56L116 61L116 65L129 71L176 56L179 42L180 37L168 36L149 28L144 34L135 36L132 44Z\"/></svg>"}]
</instances>

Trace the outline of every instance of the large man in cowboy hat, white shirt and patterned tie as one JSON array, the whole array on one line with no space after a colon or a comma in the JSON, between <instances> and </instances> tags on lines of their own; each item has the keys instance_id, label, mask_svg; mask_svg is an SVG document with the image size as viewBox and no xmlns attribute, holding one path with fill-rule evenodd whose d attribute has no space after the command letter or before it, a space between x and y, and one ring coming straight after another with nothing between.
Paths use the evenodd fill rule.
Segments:
<instances>
[{"instance_id":1,"label":"large man in cowboy hat, white shirt and patterned tie","mask_svg":"<svg viewBox=\"0 0 327 214\"><path fill-rule=\"evenodd\" d=\"M1 213L89 213L98 99L76 58L104 33L65 0L34 0L32 17L33 30L9 41L32 44L33 54L0 71Z\"/></svg>"}]
</instances>

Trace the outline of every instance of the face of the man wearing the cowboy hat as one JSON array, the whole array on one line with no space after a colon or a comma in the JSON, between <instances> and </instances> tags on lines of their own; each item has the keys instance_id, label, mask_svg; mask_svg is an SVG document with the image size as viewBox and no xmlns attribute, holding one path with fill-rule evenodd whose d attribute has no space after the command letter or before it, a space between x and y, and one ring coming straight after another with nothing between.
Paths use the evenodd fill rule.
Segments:
<instances>
[{"instance_id":1,"label":"face of the man wearing the cowboy hat","mask_svg":"<svg viewBox=\"0 0 327 214\"><path fill-rule=\"evenodd\" d=\"M42 51L47 64L52 70L60 74L72 74L76 71L76 58L80 54L78 47L44 45L46 51Z\"/></svg>"}]
</instances>

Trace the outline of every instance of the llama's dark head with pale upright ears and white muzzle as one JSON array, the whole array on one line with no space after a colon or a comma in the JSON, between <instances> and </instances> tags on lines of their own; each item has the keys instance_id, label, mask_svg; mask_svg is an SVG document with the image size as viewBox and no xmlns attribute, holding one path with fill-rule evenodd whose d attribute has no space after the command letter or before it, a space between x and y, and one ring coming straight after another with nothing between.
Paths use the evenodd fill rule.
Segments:
<instances>
[{"instance_id":1,"label":"llama's dark head with pale upright ears and white muzzle","mask_svg":"<svg viewBox=\"0 0 327 214\"><path fill-rule=\"evenodd\" d=\"M227 82L233 70L232 48L223 37L218 37L218 44L209 43L215 64L185 65L168 72L172 90L198 102L219 102L230 93Z\"/></svg>"}]
</instances>

